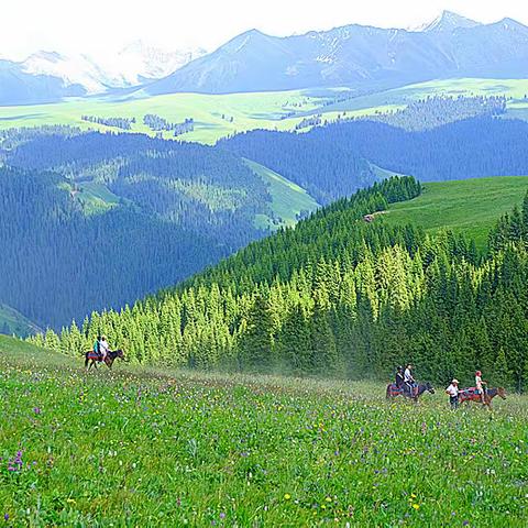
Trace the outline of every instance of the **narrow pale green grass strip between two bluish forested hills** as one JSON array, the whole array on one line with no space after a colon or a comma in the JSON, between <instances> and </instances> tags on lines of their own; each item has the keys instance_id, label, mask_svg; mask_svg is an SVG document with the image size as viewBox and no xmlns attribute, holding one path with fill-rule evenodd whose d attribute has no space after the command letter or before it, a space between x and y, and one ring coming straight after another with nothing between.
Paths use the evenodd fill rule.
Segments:
<instances>
[{"instance_id":1,"label":"narrow pale green grass strip between two bluish forested hills","mask_svg":"<svg viewBox=\"0 0 528 528\"><path fill-rule=\"evenodd\" d=\"M297 223L299 212L312 212L319 207L319 204L297 184L251 160L245 160L245 163L264 182L270 184L272 210L280 226L293 227ZM272 219L264 216L260 217L257 222L261 227L278 227L272 222Z\"/></svg>"}]
</instances>

